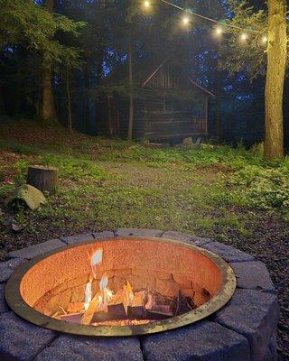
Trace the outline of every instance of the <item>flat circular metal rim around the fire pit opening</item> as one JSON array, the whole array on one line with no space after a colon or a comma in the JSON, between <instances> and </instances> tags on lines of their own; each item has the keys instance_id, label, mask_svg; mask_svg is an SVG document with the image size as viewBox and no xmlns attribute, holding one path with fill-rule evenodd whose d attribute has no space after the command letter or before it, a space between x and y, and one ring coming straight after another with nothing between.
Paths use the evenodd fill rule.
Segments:
<instances>
[{"instance_id":1,"label":"flat circular metal rim around the fire pit opening","mask_svg":"<svg viewBox=\"0 0 289 361\"><path fill-rule=\"evenodd\" d=\"M164 319L155 321L150 324L145 325L132 325L132 326L86 326L72 324L59 319L52 319L49 316L34 310L29 306L22 298L20 293L20 283L23 279L23 275L33 267L33 265L39 263L43 259L58 254L60 252L66 251L70 248L78 247L79 245L64 246L53 250L51 252L45 253L34 257L31 261L28 261L26 264L20 266L15 273L12 274L9 281L5 286L5 300L8 303L9 307L14 310L14 312L23 319L26 319L37 326L41 326L45 329L53 329L56 331L61 331L64 333L70 333L74 335L82 336L98 336L98 337L121 337L121 336L136 336L144 334L152 334L163 332L169 329L178 329L183 326L191 325L192 323L204 319L210 316L212 313L221 309L233 296L236 287L237 281L235 273L229 264L223 260L219 255L216 255L206 249L200 248L197 245L191 245L182 241L177 241L167 238L156 238L156 237L143 237L143 236L125 236L125 237L115 237L115 238L103 238L94 241L83 242L81 245L89 245L93 243L108 242L108 241L117 241L117 239L127 239L127 240L153 240L155 242L166 242L173 243L175 245L182 245L187 248L191 248L196 252L200 252L202 255L207 256L210 260L216 264L219 268L219 272L222 276L222 284L219 292L213 296L210 301L207 301L200 307L195 310L191 310L182 315L172 317L171 319Z\"/></svg>"}]
</instances>

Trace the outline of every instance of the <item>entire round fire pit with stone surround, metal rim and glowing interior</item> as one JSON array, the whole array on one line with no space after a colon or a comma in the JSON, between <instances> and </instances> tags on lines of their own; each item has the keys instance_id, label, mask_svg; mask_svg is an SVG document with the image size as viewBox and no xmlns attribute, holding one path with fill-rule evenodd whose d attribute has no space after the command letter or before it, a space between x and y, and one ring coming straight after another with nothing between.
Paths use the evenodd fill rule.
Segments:
<instances>
[{"instance_id":1,"label":"entire round fire pit with stone surround, metal rim and glowing interior","mask_svg":"<svg viewBox=\"0 0 289 361\"><path fill-rule=\"evenodd\" d=\"M135 239L131 239L130 236ZM141 237L142 242L154 241L154 246L143 249L136 237ZM107 238L109 240L106 240ZM172 242L168 238L172 239ZM109 243L112 245L113 241L115 241L114 246L108 247ZM125 258L120 249L115 247L120 246L121 242L124 243L123 250L129 255ZM91 245L93 245L92 248ZM128 252L128 248L134 245L137 245L132 252L135 258ZM107 253L107 247L114 249L114 252ZM99 261L100 258L94 253L96 251L97 255L100 255L99 248L102 248L102 262L94 267L95 277L93 275L93 279L91 279L91 259ZM82 255L80 255L80 250L83 251ZM161 250L163 251L161 252ZM206 250L209 252L207 253ZM68 253L63 251L68 251ZM185 266L183 267L178 265L183 264L182 253L185 257ZM76 254L79 254L77 259ZM195 254L198 255L195 256ZM225 299L219 302L218 307L216 305L216 311L210 314L210 317L205 318L205 311L218 301L222 289L228 298L230 293L226 282L223 283L223 280L226 279L223 277L224 268L219 264L219 257L216 255L219 255L221 264L225 264L225 270L227 269L231 273L229 268L231 267L236 274L237 288L223 307L218 310ZM115 260L112 261L111 257L115 257ZM121 258L121 261L117 261L117 258ZM60 261L58 268L55 267L54 261L56 260ZM135 262L134 260L137 261L136 266L132 264ZM206 277L202 276L199 284L194 277L197 277L198 274L200 277L200 265L203 264L203 260L204 264L209 264L210 272L204 273ZM228 264L223 263L222 260ZM129 267L126 263L128 261L130 262ZM66 274L66 276L60 278L63 277L61 274ZM141 284L135 283L135 279ZM107 284L101 282L104 280L107 280ZM117 282L115 282L116 280ZM219 280L221 280L220 283ZM154 306L155 302L146 300L142 310L147 311L146 316L149 323L143 325L135 325L129 318L128 325L123 327L120 325L115 327L79 325L51 318L58 317L55 316L56 312L51 314L51 311L54 311L54 306L59 308L60 300L62 302L65 299L62 292L68 293L67 299L70 296L69 302L74 303L73 307L78 306L75 303L81 303L79 301L89 301L89 298L85 300L83 296L83 292L89 290L89 281L92 281L92 297L97 292L101 293L100 285L114 293L120 292L121 287L125 285L126 290L134 293L134 302L142 299L139 297L142 292L151 295L152 293L153 295L161 293L164 301L168 299L172 301L172 303L164 302L165 307L161 309L167 311L169 304L169 310L174 313L172 316L166 315L168 317L166 319L151 319L150 313L154 309L151 306ZM27 287L26 292L22 290L23 285ZM167 285L169 287L164 287ZM176 287L172 285L176 285ZM176 296L176 293L179 294L181 290L183 297L190 296L191 293L187 293L189 285L193 300L193 304L189 302L189 305L193 310L185 310L183 302L179 303L182 306L181 310L177 310L176 303L179 297ZM4 291L13 310L5 303ZM89 292L87 293L89 294ZM47 303L47 300L50 302ZM190 301L190 297L189 300L185 300ZM91 303L92 301L93 299ZM156 304L159 303L163 306L162 300L156 299L156 301ZM30 305L29 302L31 302ZM68 307L63 303L62 306ZM127 310L135 311L133 306L135 303L127 304ZM14 310L23 318L18 317ZM100 309L98 309L98 314L101 313L99 311ZM70 316L70 312L68 313ZM230 245L179 232L121 228L114 232L104 231L62 237L11 252L8 261L0 263L0 335L5 335L0 338L0 359L69 361L78 359L81 355L83 359L87 360L106 359L107 361L200 359L207 361L276 361L278 358L276 343L278 318L275 287L270 280L265 264L257 261L254 256L247 255ZM31 320L34 324L25 319ZM194 322L196 319L200 320ZM123 321L122 319L121 322ZM126 321L127 319L125 323ZM183 325L187 326L179 328L182 321ZM99 319L92 319L92 323L99 325ZM171 324L176 329L172 329ZM63 332L53 330L56 327L59 328L60 325L65 326ZM170 328L170 330L154 334L139 332L144 329L154 332L156 325L161 325L161 329L158 329L160 331L164 327ZM50 326L53 329L48 329ZM89 330L91 332L89 335L92 336L97 335L96 330L100 329L104 332L102 336L107 336L107 333L110 332L109 329L115 336L118 331L122 336L124 331L127 334L130 332L130 335L133 332L135 335L141 335L129 338L99 338L75 336L68 333L74 333L75 329Z\"/></svg>"}]
</instances>

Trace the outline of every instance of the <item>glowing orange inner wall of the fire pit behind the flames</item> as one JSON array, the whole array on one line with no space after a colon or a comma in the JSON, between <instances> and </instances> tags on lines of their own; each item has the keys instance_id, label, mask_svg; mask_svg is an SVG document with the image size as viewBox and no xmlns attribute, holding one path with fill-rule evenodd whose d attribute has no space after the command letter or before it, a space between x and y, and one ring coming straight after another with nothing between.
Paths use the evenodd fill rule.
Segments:
<instances>
[{"instance_id":1,"label":"glowing orange inner wall of the fire pit behind the flames","mask_svg":"<svg viewBox=\"0 0 289 361\"><path fill-rule=\"evenodd\" d=\"M92 293L98 291L104 273L113 292L126 282L134 292L159 292L168 298L177 297L181 291L193 298L196 307L209 301L221 287L219 268L206 255L172 242L124 238L79 245L43 259L23 276L23 300L46 316L60 307L67 310L71 302L84 302L91 274L89 259L99 248L103 258Z\"/></svg>"}]
</instances>

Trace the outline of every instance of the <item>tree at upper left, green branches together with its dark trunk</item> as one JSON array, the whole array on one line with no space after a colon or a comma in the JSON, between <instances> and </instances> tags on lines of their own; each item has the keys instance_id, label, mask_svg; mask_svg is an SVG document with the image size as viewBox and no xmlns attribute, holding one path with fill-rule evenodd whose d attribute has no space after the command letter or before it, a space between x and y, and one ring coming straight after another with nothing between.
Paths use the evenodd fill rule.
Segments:
<instances>
[{"instance_id":1,"label":"tree at upper left, green branches together with its dark trunk","mask_svg":"<svg viewBox=\"0 0 289 361\"><path fill-rule=\"evenodd\" d=\"M61 39L56 40L54 36L58 33L78 36L85 23L75 22L61 14L52 14L53 0L49 0L47 5L48 10L41 5L41 1L1 0L0 51L4 58L20 60L21 65L29 59L33 64L28 69L30 74L35 72L34 66L37 63L38 73L44 74L44 86L43 83L37 84L35 88L44 89L44 104L51 105L51 64L55 66L63 62L73 68L79 64L80 56L79 49L63 45ZM45 118L50 116L52 108L50 106L48 110L48 106L42 106L42 115Z\"/></svg>"}]
</instances>

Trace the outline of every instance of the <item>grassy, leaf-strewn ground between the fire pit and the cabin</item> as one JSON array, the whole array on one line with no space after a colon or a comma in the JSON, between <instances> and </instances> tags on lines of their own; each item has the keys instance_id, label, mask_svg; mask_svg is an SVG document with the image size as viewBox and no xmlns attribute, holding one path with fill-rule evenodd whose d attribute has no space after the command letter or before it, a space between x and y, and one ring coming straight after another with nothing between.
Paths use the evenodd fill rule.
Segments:
<instances>
[{"instance_id":1,"label":"grassy, leaf-strewn ground between the fire pit and the cabin","mask_svg":"<svg viewBox=\"0 0 289 361\"><path fill-rule=\"evenodd\" d=\"M36 211L9 208L29 164L56 166L58 191ZM11 250L90 230L148 227L211 237L266 263L282 301L280 338L289 313L288 207L289 160L265 162L259 147L154 148L29 122L0 125L1 261ZM23 231L11 231L12 218Z\"/></svg>"}]
</instances>

